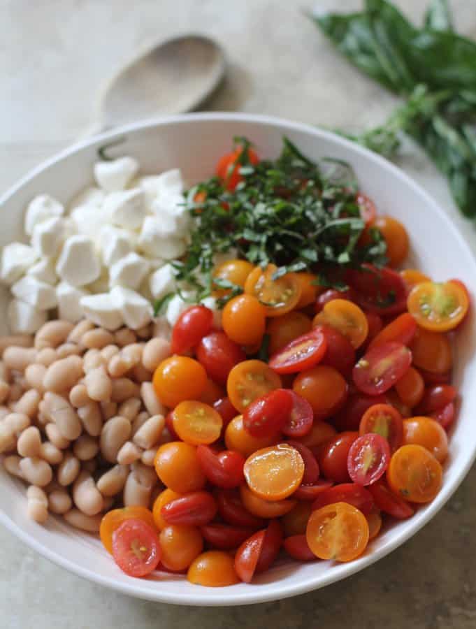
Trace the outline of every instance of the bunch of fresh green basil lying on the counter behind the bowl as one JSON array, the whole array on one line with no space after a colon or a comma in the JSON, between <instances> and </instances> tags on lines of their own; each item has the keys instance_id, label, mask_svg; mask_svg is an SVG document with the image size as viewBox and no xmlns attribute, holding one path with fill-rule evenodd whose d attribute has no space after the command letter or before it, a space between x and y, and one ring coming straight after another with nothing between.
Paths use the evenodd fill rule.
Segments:
<instances>
[{"instance_id":1,"label":"bunch of fresh green basil lying on the counter behind the bowl","mask_svg":"<svg viewBox=\"0 0 476 629\"><path fill-rule=\"evenodd\" d=\"M382 126L343 135L392 157L408 133L447 175L461 211L476 216L476 43L454 32L446 0L431 0L422 28L386 0L311 17L361 71L406 99Z\"/></svg>"}]
</instances>

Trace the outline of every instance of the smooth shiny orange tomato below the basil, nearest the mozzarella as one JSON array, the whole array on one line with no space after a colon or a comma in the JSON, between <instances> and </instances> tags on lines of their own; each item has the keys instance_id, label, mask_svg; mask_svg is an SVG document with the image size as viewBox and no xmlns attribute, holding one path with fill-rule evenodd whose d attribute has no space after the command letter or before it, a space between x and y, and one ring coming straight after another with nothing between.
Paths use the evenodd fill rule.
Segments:
<instances>
[{"instance_id":1,"label":"smooth shiny orange tomato below the basil, nearest the mozzarella","mask_svg":"<svg viewBox=\"0 0 476 629\"><path fill-rule=\"evenodd\" d=\"M252 295L238 295L224 307L222 325L226 335L238 345L261 344L266 308Z\"/></svg>"}]
</instances>

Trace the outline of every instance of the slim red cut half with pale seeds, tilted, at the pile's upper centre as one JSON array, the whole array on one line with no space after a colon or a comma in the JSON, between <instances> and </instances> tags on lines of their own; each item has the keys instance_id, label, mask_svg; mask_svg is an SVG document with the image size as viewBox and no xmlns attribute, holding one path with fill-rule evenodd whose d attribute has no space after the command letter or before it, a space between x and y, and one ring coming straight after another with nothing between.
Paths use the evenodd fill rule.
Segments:
<instances>
[{"instance_id":1,"label":"slim red cut half with pale seeds, tilted, at the pile's upper centre","mask_svg":"<svg viewBox=\"0 0 476 629\"><path fill-rule=\"evenodd\" d=\"M324 334L315 328L273 354L269 366L277 373L298 373L317 365L326 353L326 347Z\"/></svg>"}]
</instances>

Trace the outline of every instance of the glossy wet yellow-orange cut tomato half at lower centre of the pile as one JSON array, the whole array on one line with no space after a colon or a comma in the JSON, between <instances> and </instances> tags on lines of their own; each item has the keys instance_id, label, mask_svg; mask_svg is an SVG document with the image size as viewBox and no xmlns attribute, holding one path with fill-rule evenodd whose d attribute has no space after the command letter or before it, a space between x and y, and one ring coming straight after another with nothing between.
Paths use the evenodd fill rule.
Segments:
<instances>
[{"instance_id":1,"label":"glossy wet yellow-orange cut tomato half at lower centre of the pile","mask_svg":"<svg viewBox=\"0 0 476 629\"><path fill-rule=\"evenodd\" d=\"M283 500L301 484L304 461L287 443L257 450L245 463L245 479L250 489L264 500Z\"/></svg>"}]
</instances>

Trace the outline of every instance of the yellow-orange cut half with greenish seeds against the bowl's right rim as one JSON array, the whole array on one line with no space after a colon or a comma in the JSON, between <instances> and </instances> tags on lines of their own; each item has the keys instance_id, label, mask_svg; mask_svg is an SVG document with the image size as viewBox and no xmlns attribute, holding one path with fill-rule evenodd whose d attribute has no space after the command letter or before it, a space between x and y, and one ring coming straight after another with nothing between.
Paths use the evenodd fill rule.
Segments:
<instances>
[{"instance_id":1,"label":"yellow-orange cut half with greenish seeds against the bowl's right rim","mask_svg":"<svg viewBox=\"0 0 476 629\"><path fill-rule=\"evenodd\" d=\"M447 332L463 321L469 301L466 290L456 282L423 282L412 288L407 305L421 328Z\"/></svg>"}]
</instances>

